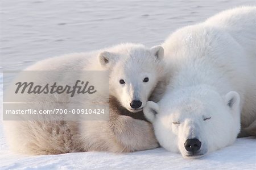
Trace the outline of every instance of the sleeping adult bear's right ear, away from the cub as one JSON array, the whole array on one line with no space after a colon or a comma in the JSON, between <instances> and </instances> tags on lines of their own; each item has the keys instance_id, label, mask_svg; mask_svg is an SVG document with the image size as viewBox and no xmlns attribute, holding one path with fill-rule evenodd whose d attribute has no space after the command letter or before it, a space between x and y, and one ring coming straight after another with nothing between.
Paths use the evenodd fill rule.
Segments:
<instances>
[{"instance_id":1,"label":"sleeping adult bear's right ear, away from the cub","mask_svg":"<svg viewBox=\"0 0 256 170\"><path fill-rule=\"evenodd\" d=\"M240 110L240 95L237 92L231 91L224 96L226 105L233 111Z\"/></svg>"}]
</instances>

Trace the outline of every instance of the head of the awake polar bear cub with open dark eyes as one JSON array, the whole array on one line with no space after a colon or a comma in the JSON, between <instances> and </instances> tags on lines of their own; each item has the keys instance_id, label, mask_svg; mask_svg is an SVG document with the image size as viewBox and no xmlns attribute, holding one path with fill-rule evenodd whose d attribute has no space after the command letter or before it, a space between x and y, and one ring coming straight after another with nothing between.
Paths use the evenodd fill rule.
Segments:
<instances>
[{"instance_id":1,"label":"head of the awake polar bear cub with open dark eyes","mask_svg":"<svg viewBox=\"0 0 256 170\"><path fill-rule=\"evenodd\" d=\"M102 67L110 71L110 95L131 112L141 111L163 76L164 49L122 44L100 53Z\"/></svg>"}]
</instances>

